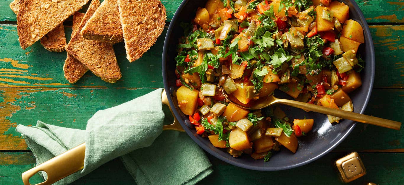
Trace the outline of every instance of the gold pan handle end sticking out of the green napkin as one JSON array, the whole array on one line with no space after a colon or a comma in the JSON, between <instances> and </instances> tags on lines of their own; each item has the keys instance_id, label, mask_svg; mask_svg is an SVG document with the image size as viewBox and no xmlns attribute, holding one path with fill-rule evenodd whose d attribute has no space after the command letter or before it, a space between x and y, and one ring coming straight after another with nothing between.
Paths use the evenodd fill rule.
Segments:
<instances>
[{"instance_id":1,"label":"gold pan handle end sticking out of the green napkin","mask_svg":"<svg viewBox=\"0 0 404 185\"><path fill-rule=\"evenodd\" d=\"M50 185L60 179L63 179L74 172L77 172L84 168L84 153L86 151L86 143L78 145L72 149L65 151L64 153L56 156L34 168L23 172L22 179L24 185L31 185L29 178L39 171L44 171L48 174L48 179L42 183L36 185Z\"/></svg>"}]
</instances>

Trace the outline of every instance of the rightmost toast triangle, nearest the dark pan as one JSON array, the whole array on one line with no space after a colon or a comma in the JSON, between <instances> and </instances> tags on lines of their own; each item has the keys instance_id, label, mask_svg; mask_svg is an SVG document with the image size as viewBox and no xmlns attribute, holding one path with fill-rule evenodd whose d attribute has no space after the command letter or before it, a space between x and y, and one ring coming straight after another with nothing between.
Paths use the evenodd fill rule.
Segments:
<instances>
[{"instance_id":1,"label":"rightmost toast triangle, nearest the dark pan","mask_svg":"<svg viewBox=\"0 0 404 185\"><path fill-rule=\"evenodd\" d=\"M156 42L166 23L166 8L159 0L118 0L126 58L133 62Z\"/></svg>"}]
</instances>

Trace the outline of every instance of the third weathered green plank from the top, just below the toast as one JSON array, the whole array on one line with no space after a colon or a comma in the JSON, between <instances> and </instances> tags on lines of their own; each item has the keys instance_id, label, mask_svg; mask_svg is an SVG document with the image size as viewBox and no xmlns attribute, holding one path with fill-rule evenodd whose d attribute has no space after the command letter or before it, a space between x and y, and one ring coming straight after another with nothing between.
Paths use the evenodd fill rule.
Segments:
<instances>
[{"instance_id":1,"label":"third weathered green plank from the top, just below the toast","mask_svg":"<svg viewBox=\"0 0 404 185\"><path fill-rule=\"evenodd\" d=\"M17 124L35 125L37 120L41 120L48 124L85 129L86 121L96 111L119 105L152 90L154 89L0 88L0 150L28 149L21 135L15 132ZM366 114L402 121L403 96L404 90L375 89ZM402 133L359 123L336 151L404 149Z\"/></svg>"}]
</instances>

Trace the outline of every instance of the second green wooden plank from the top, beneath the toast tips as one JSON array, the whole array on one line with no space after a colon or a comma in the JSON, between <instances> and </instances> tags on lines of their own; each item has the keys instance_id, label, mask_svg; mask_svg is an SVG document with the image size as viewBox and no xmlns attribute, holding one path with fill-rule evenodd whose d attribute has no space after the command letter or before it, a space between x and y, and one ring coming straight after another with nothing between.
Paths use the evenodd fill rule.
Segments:
<instances>
[{"instance_id":1,"label":"second green wooden plank from the top, beneath the toast tips","mask_svg":"<svg viewBox=\"0 0 404 185\"><path fill-rule=\"evenodd\" d=\"M404 35L403 26L370 26L376 51L375 88L402 88L404 86ZM71 28L66 27L70 36ZM63 76L66 53L45 50L39 42L27 50L19 46L15 25L0 25L0 42L5 43L0 50L0 86L6 87L101 87L101 88L143 88L161 87L161 50L166 29L156 44L141 59L129 63L123 43L115 44L122 79L109 84L88 72L83 79L72 85ZM69 39L69 38L68 38ZM150 75L152 74L152 75ZM145 79L144 76L147 76Z\"/></svg>"}]
</instances>

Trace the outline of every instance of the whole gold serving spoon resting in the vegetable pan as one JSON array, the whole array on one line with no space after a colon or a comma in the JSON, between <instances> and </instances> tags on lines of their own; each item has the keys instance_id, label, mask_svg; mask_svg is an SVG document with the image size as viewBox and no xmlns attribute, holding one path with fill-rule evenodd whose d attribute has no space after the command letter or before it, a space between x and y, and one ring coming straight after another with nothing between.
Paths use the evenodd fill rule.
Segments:
<instances>
[{"instance_id":1,"label":"whole gold serving spoon resting in the vegetable pan","mask_svg":"<svg viewBox=\"0 0 404 185\"><path fill-rule=\"evenodd\" d=\"M289 105L291 107L297 107L309 111L314 111L322 114L327 114L330 116L337 116L338 118L344 118L347 120L353 120L356 122L361 122L361 123L366 123L366 124L372 124L376 126L382 126L385 128L391 128L395 130L400 130L401 127L401 122L396 122L393 120L386 120L383 118L377 118L373 116L367 116L364 114L358 114L355 112L350 112L350 111L344 111L341 109L332 109L320 105L314 105L310 103L304 103L300 101L295 101L295 100L288 100L288 99L278 99L274 97L274 94L269 95L268 97L262 97L259 98L257 101L254 101L251 103L251 105L245 105L242 103L239 103L237 101L232 100L229 98L229 96L226 94L225 90L222 88L221 89L223 92L224 97L230 101L231 103L234 103L235 105L242 107L244 109L250 109L250 110L256 110L256 109L263 109L265 107L275 105L275 104L284 104L284 105Z\"/></svg>"}]
</instances>

